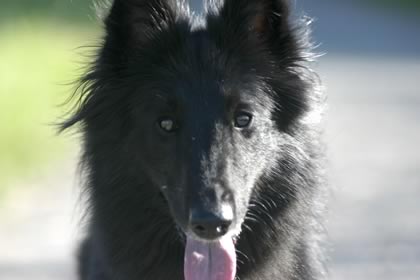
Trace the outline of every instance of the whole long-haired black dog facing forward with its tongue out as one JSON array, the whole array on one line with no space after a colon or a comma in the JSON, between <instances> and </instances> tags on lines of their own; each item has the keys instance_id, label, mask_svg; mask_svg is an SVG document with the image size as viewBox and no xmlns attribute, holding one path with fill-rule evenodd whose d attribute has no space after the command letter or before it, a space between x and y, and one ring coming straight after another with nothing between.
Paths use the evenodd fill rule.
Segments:
<instances>
[{"instance_id":1,"label":"whole long-haired black dog facing forward with its tongue out","mask_svg":"<svg viewBox=\"0 0 420 280\"><path fill-rule=\"evenodd\" d=\"M306 26L282 0L115 0L82 80L85 280L321 279Z\"/></svg>"}]
</instances>

